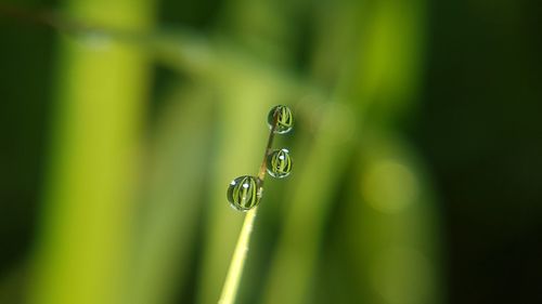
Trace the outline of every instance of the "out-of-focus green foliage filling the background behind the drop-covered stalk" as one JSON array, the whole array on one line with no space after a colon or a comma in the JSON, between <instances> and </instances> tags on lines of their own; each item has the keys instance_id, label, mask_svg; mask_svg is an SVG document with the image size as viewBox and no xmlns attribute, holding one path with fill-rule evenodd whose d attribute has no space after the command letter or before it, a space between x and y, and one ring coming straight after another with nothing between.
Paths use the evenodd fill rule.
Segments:
<instances>
[{"instance_id":1,"label":"out-of-focus green foliage filling the background behind the drop-covered stalk","mask_svg":"<svg viewBox=\"0 0 542 304\"><path fill-rule=\"evenodd\" d=\"M64 6L95 28L57 28L29 303L216 303L243 222L225 187L258 168L275 104L295 170L267 182L237 302L440 303L429 179L396 127L425 2L224 1L201 31L154 25L156 4Z\"/></svg>"}]
</instances>

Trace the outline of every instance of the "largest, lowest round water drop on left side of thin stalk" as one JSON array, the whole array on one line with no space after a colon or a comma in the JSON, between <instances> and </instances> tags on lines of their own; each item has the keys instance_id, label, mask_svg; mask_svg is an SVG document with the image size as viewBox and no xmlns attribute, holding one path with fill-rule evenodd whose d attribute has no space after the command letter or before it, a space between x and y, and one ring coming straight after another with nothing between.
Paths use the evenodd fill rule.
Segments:
<instances>
[{"instance_id":1,"label":"largest, lowest round water drop on left side of thin stalk","mask_svg":"<svg viewBox=\"0 0 542 304\"><path fill-rule=\"evenodd\" d=\"M228 187L228 200L238 211L247 211L260 202L261 187L256 177L244 175L233 180Z\"/></svg>"}]
</instances>

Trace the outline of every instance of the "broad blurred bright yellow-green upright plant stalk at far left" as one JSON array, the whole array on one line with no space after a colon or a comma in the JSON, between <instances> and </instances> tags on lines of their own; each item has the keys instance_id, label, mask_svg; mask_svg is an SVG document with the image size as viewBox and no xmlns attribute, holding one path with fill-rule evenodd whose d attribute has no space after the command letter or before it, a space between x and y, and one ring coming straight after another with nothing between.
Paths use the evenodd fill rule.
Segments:
<instances>
[{"instance_id":1,"label":"broad blurred bright yellow-green upright plant stalk at far left","mask_svg":"<svg viewBox=\"0 0 542 304\"><path fill-rule=\"evenodd\" d=\"M152 0L72 0L81 22L144 31ZM150 63L137 45L61 35L56 104L33 304L126 303Z\"/></svg>"}]
</instances>

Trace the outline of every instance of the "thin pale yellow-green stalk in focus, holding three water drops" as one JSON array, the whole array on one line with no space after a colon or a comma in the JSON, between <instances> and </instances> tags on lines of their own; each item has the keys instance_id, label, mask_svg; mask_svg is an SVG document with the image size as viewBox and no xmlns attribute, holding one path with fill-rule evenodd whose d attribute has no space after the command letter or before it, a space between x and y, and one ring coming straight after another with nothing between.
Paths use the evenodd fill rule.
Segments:
<instances>
[{"instance_id":1,"label":"thin pale yellow-green stalk in focus, holding three water drops","mask_svg":"<svg viewBox=\"0 0 542 304\"><path fill-rule=\"evenodd\" d=\"M261 194L263 189L263 180L266 179L268 156L273 146L274 131L276 129L276 121L279 120L279 111L275 110L273 114L273 125L269 132L268 145L263 154L263 160L261 161L260 170L258 172L258 193ZM235 301L235 295L237 294L238 283L243 275L243 268L245 266L245 261L248 252L248 243L250 241L250 234L253 232L254 220L256 219L256 212L258 207L249 210L245 215L245 221L243 222L243 227L237 238L237 244L233 251L233 256L230 262L230 268L228 268L228 275L225 276L224 286L222 287L222 293L220 294L219 304L232 304Z\"/></svg>"}]
</instances>

